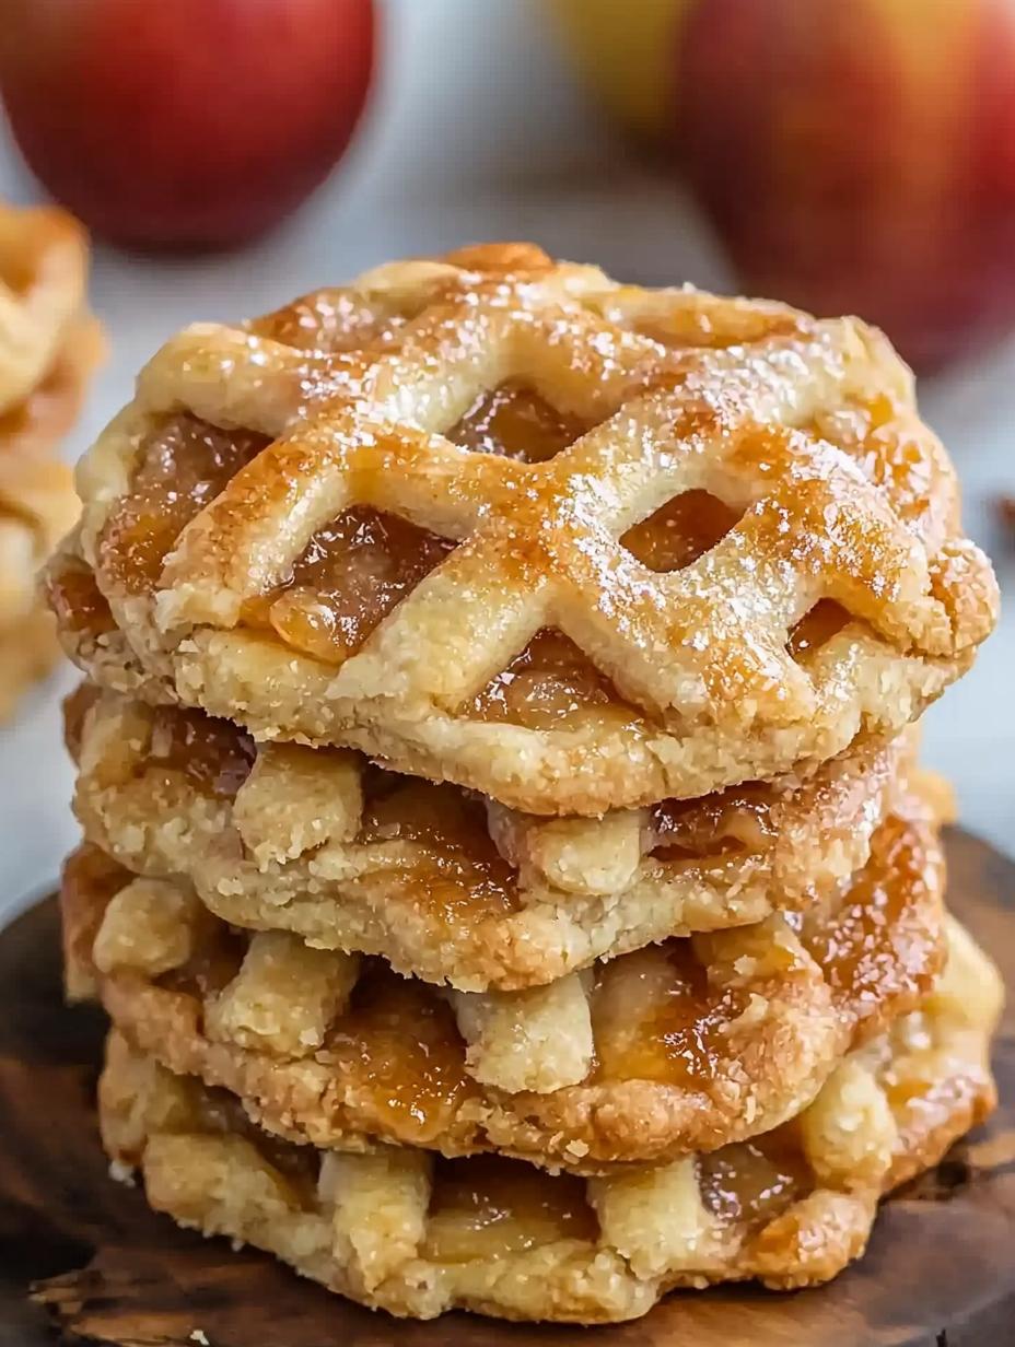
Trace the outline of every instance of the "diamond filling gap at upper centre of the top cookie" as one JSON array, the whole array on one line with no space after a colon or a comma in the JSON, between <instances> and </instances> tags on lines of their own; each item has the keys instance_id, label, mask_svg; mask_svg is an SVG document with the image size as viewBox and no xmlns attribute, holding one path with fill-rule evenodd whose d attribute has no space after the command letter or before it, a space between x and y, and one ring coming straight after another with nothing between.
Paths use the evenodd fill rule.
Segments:
<instances>
[{"instance_id":1,"label":"diamond filling gap at upper centre of the top cookie","mask_svg":"<svg viewBox=\"0 0 1015 1347\"><path fill-rule=\"evenodd\" d=\"M480 393L446 438L473 453L545 463L590 428L580 416L558 411L542 393L512 379Z\"/></svg>"}]
</instances>

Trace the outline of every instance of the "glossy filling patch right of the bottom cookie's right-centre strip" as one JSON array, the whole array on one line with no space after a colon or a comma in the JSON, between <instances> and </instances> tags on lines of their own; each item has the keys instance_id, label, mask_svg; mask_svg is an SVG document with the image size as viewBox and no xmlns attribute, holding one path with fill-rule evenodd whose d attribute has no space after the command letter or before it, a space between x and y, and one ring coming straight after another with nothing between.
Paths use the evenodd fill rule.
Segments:
<instances>
[{"instance_id":1,"label":"glossy filling patch right of the bottom cookie's right-centre strip","mask_svg":"<svg viewBox=\"0 0 1015 1347\"><path fill-rule=\"evenodd\" d=\"M698 1183L705 1207L720 1220L758 1224L772 1220L814 1185L793 1123L698 1156Z\"/></svg>"}]
</instances>

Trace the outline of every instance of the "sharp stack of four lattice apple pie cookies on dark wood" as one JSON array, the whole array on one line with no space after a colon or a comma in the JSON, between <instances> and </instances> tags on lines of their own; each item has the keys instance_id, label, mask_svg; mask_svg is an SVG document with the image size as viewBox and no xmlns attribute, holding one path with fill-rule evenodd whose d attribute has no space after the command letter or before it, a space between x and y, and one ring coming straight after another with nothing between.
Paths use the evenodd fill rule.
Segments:
<instances>
[{"instance_id":1,"label":"sharp stack of four lattice apple pie cookies on dark wood","mask_svg":"<svg viewBox=\"0 0 1015 1347\"><path fill-rule=\"evenodd\" d=\"M146 366L51 563L115 1175L364 1304L821 1282L992 1106L910 726L996 614L856 319L527 245Z\"/></svg>"}]
</instances>

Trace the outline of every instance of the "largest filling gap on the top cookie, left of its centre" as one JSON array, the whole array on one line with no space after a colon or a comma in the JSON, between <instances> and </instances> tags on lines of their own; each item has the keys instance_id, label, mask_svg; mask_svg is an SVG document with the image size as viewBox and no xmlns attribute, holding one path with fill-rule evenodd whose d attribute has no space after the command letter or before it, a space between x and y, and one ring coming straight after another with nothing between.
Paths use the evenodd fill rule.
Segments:
<instances>
[{"instance_id":1,"label":"largest filling gap on the top cookie, left of its centre","mask_svg":"<svg viewBox=\"0 0 1015 1347\"><path fill-rule=\"evenodd\" d=\"M355 506L318 529L286 579L244 605L248 625L341 664L454 548L395 515Z\"/></svg>"}]
</instances>

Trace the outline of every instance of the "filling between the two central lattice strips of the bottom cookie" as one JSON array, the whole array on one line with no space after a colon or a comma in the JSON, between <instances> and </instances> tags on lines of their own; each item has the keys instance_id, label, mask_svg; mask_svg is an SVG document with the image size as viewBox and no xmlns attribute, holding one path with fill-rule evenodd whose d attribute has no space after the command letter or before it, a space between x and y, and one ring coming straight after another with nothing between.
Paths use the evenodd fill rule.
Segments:
<instances>
[{"instance_id":1,"label":"filling between the two central lattice strips of the bottom cookie","mask_svg":"<svg viewBox=\"0 0 1015 1347\"><path fill-rule=\"evenodd\" d=\"M496 1156L437 1161L425 1258L485 1261L558 1239L598 1239L584 1180Z\"/></svg>"}]
</instances>

